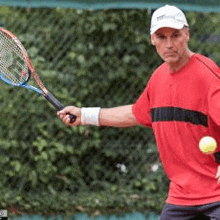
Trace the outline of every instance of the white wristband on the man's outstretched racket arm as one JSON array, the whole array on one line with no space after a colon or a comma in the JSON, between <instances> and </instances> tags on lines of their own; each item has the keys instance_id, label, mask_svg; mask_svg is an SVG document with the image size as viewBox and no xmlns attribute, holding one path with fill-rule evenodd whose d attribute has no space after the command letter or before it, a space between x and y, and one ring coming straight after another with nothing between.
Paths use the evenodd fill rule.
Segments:
<instances>
[{"instance_id":1,"label":"white wristband on the man's outstretched racket arm","mask_svg":"<svg viewBox=\"0 0 220 220\"><path fill-rule=\"evenodd\" d=\"M100 107L81 108L81 125L99 126Z\"/></svg>"}]
</instances>

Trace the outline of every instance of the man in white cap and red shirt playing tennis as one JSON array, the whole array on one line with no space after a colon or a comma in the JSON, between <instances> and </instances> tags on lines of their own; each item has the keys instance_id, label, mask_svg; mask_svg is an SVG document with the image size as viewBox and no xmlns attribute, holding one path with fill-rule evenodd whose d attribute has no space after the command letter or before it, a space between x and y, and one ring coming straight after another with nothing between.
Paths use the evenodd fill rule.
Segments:
<instances>
[{"instance_id":1,"label":"man in white cap and red shirt playing tennis","mask_svg":"<svg viewBox=\"0 0 220 220\"><path fill-rule=\"evenodd\" d=\"M164 63L135 104L108 109L69 106L58 115L70 126L152 127L170 179L161 220L220 220L220 161L198 147L204 136L220 143L219 68L189 50L186 17L174 6L153 13L150 35ZM76 115L74 123L69 114Z\"/></svg>"}]
</instances>

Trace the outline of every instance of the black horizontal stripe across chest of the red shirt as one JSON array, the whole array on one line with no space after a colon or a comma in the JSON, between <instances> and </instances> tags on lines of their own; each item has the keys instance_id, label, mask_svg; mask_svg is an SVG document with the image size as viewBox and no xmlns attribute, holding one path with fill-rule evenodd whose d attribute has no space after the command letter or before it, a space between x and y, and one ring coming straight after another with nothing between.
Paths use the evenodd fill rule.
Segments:
<instances>
[{"instance_id":1,"label":"black horizontal stripe across chest of the red shirt","mask_svg":"<svg viewBox=\"0 0 220 220\"><path fill-rule=\"evenodd\" d=\"M208 127L207 115L183 108L177 107L160 107L151 109L152 122L159 121L182 121L195 125Z\"/></svg>"}]
</instances>

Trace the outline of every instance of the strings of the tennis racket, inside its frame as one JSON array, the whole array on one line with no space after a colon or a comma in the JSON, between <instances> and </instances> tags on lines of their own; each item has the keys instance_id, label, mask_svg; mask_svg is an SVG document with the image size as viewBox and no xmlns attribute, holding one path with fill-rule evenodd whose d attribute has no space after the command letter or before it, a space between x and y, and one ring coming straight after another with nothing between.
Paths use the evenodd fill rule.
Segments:
<instances>
[{"instance_id":1,"label":"strings of the tennis racket, inside its frame","mask_svg":"<svg viewBox=\"0 0 220 220\"><path fill-rule=\"evenodd\" d=\"M28 66L21 48L4 32L0 32L0 75L14 85L29 79Z\"/></svg>"}]
</instances>

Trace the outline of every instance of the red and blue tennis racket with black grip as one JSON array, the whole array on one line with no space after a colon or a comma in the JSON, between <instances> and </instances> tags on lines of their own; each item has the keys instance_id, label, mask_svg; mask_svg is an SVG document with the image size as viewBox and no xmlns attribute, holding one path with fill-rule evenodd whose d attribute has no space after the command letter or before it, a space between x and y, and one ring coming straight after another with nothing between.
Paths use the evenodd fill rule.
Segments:
<instances>
[{"instance_id":1,"label":"red and blue tennis racket with black grip","mask_svg":"<svg viewBox=\"0 0 220 220\"><path fill-rule=\"evenodd\" d=\"M31 75L39 88L28 84ZM9 85L20 86L37 92L48 100L57 111L64 108L43 85L27 51L18 38L2 27L0 27L0 79ZM70 114L69 117L71 122L76 120L75 115Z\"/></svg>"}]
</instances>

